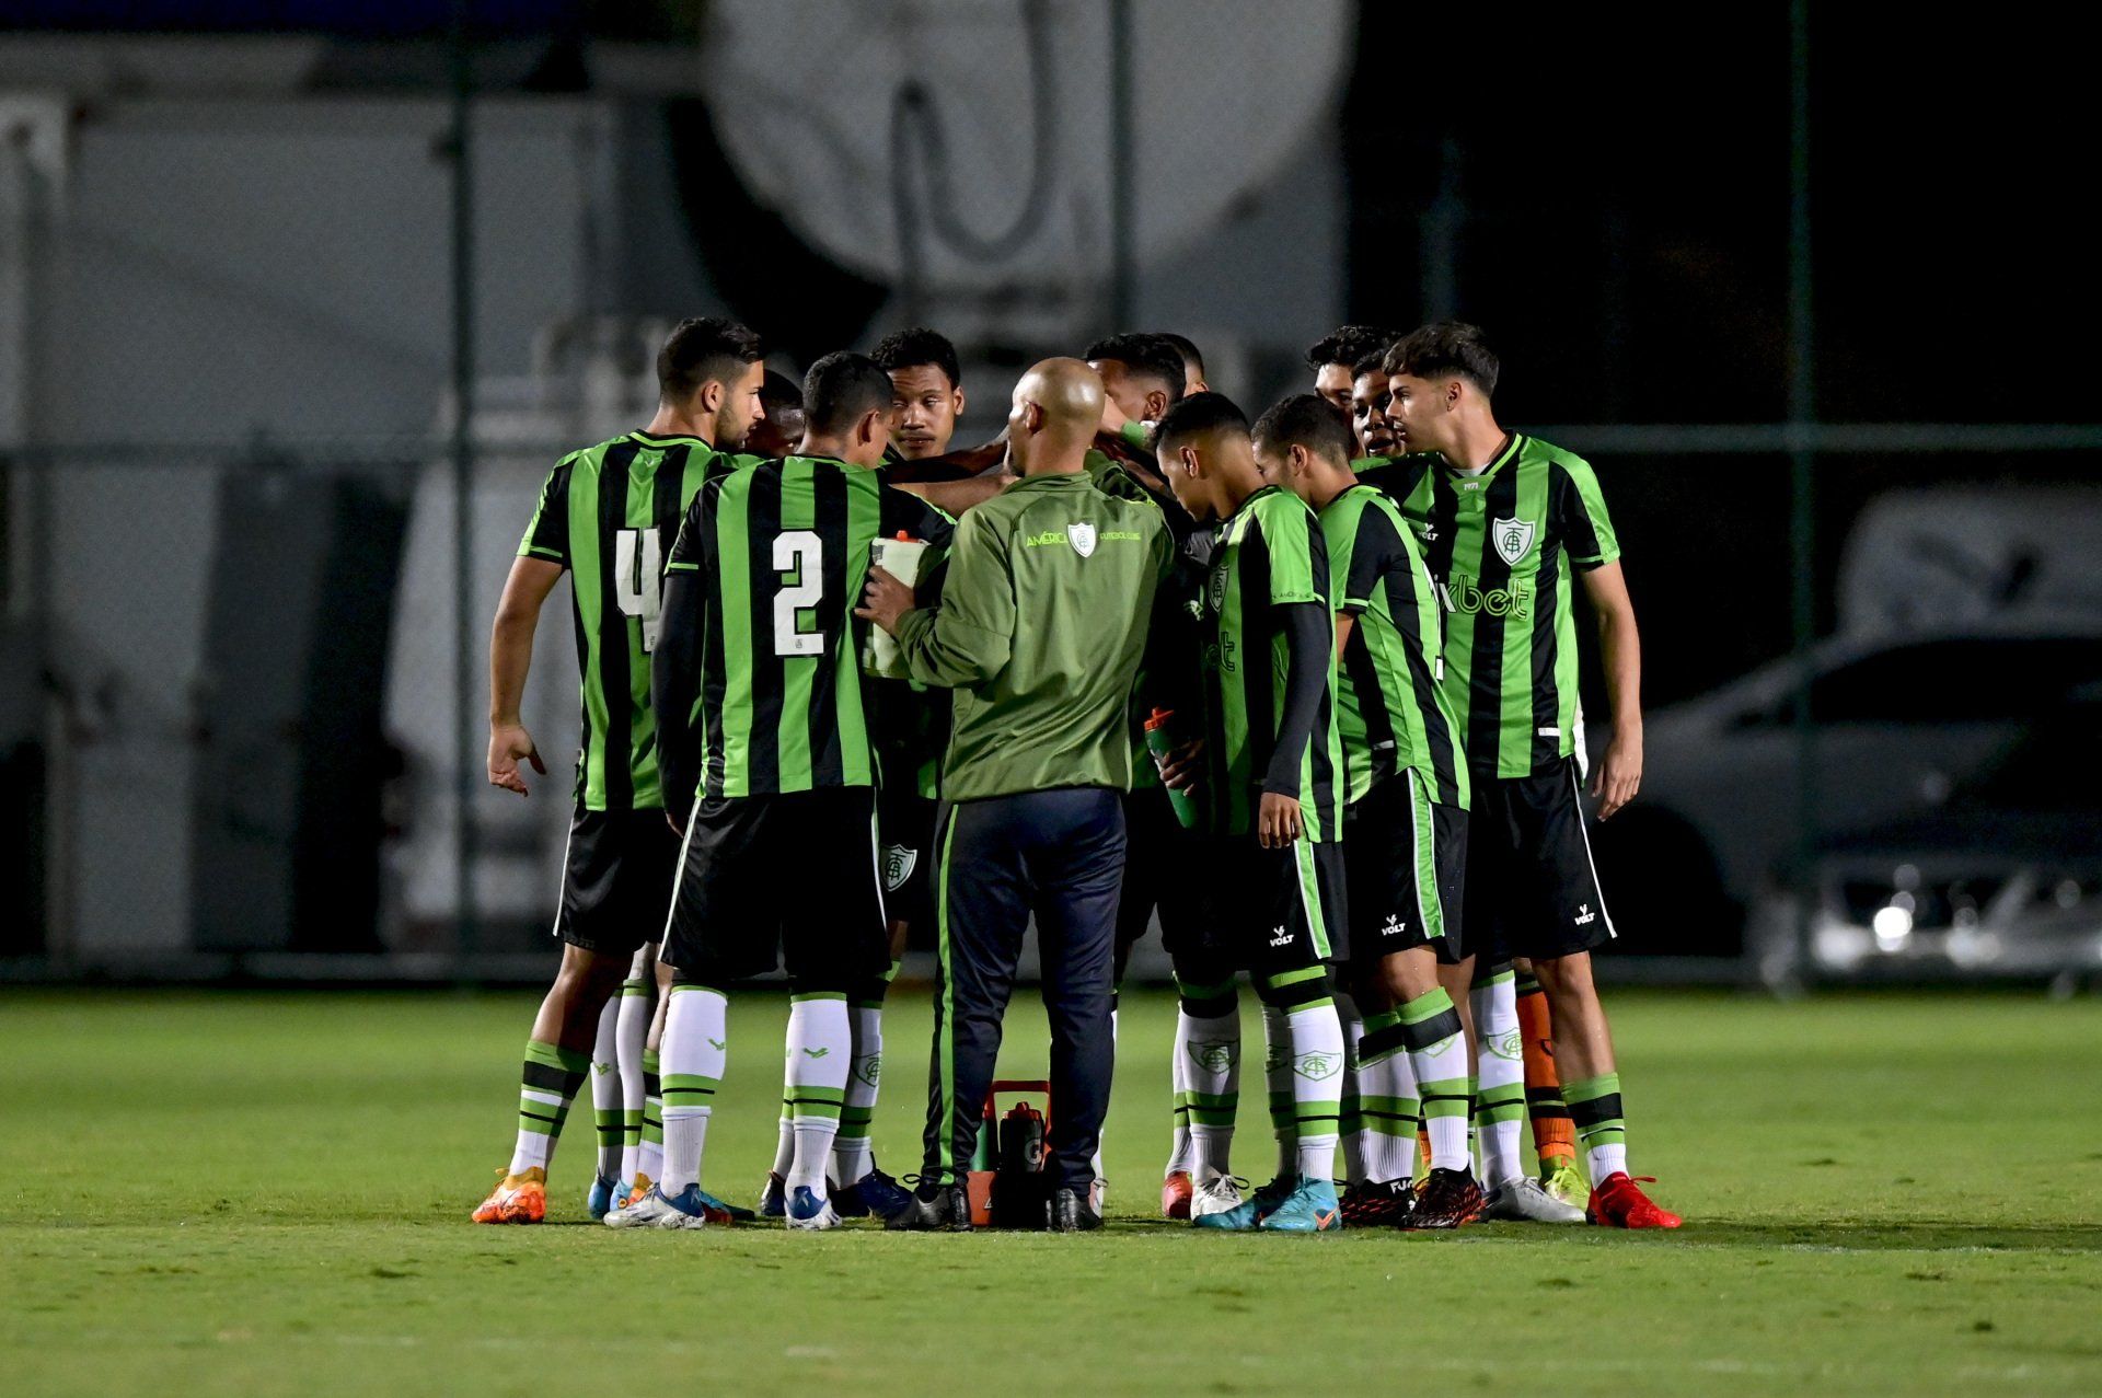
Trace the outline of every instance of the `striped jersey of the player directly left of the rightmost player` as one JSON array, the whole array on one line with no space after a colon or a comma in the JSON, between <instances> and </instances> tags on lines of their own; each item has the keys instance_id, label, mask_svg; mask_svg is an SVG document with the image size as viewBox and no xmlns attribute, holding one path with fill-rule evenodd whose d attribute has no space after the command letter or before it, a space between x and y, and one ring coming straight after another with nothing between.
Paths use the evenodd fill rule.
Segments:
<instances>
[{"instance_id":1,"label":"striped jersey of the player directly left of the rightmost player","mask_svg":"<svg viewBox=\"0 0 2102 1398\"><path fill-rule=\"evenodd\" d=\"M1408 521L1385 492L1352 486L1320 513L1337 612L1354 616L1343 645L1337 725L1347 801L1415 769L1442 805L1467 809L1467 763L1446 700L1444 618Z\"/></svg>"}]
</instances>

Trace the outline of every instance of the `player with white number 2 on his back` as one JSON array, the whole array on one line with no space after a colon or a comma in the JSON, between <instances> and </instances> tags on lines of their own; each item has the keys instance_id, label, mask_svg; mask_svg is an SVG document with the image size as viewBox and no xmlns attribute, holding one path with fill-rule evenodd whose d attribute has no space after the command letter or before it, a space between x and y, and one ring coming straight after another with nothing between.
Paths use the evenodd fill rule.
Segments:
<instances>
[{"instance_id":1,"label":"player with white number 2 on his back","mask_svg":"<svg viewBox=\"0 0 2102 1398\"><path fill-rule=\"evenodd\" d=\"M664 961L664 1175L616 1228L700 1228L734 980L788 965L795 1154L786 1224L837 1228L826 1186L851 1057L847 996L889 971L877 755L853 605L877 538L946 547L948 517L883 484L891 381L830 353L795 456L710 479L666 563L654 683L666 814L685 830ZM860 1181L879 1213L910 1202Z\"/></svg>"}]
</instances>

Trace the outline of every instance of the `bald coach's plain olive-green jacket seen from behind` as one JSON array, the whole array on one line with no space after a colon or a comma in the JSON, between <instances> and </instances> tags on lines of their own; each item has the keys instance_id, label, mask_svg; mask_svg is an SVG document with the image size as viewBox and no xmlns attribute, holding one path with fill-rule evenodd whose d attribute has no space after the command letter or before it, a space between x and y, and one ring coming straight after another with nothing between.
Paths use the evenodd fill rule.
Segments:
<instances>
[{"instance_id":1,"label":"bald coach's plain olive-green jacket seen from behind","mask_svg":"<svg viewBox=\"0 0 2102 1398\"><path fill-rule=\"evenodd\" d=\"M1030 475L956 523L942 603L906 612L912 679L956 692L944 801L1131 788L1131 685L1169 570L1160 507Z\"/></svg>"}]
</instances>

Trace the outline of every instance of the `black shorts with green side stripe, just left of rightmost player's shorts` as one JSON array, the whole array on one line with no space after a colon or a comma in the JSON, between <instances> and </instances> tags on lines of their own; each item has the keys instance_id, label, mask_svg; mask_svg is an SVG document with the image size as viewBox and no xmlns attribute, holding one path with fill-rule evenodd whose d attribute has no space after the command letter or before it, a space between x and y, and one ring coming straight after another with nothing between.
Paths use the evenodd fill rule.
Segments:
<instances>
[{"instance_id":1,"label":"black shorts with green side stripe, just left of rightmost player's shorts","mask_svg":"<svg viewBox=\"0 0 2102 1398\"><path fill-rule=\"evenodd\" d=\"M1429 799L1423 778L1396 772L1343 814L1349 950L1358 961L1429 946L1459 963L1467 811Z\"/></svg>"}]
</instances>

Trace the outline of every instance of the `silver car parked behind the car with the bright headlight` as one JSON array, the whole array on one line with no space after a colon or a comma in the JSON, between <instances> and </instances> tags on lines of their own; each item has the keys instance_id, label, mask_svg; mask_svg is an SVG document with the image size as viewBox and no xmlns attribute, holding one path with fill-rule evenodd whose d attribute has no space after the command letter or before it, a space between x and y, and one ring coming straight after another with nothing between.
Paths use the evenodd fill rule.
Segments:
<instances>
[{"instance_id":1,"label":"silver car parked behind the car with the bright headlight","mask_svg":"<svg viewBox=\"0 0 2102 1398\"><path fill-rule=\"evenodd\" d=\"M1862 830L1942 809L2039 713L2102 683L2102 618L1833 637L1810 660L1812 828ZM1593 835L1623 950L1743 950L1747 910L1797 851L1795 690L1782 658L1650 715L1642 797Z\"/></svg>"}]
</instances>

